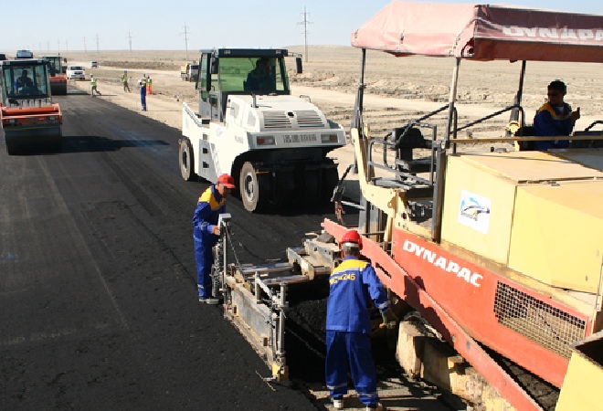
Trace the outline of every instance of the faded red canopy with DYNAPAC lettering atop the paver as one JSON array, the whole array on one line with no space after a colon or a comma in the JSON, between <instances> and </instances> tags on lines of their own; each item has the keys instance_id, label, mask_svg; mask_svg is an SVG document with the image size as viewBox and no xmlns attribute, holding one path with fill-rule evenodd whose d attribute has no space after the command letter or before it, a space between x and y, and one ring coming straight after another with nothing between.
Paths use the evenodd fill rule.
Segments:
<instances>
[{"instance_id":1,"label":"faded red canopy with DYNAPAC lettering atop the paver","mask_svg":"<svg viewBox=\"0 0 603 411\"><path fill-rule=\"evenodd\" d=\"M602 63L603 16L394 1L352 33L352 46L397 56Z\"/></svg>"}]
</instances>

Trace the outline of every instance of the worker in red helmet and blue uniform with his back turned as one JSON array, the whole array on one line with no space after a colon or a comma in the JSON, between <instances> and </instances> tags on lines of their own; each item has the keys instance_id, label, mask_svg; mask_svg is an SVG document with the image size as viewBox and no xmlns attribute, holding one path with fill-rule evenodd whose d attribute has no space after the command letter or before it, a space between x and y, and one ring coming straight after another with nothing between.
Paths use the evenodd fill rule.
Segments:
<instances>
[{"instance_id":1,"label":"worker in red helmet and blue uniform with his back turned","mask_svg":"<svg viewBox=\"0 0 603 411\"><path fill-rule=\"evenodd\" d=\"M362 237L347 231L340 242L343 260L329 277L326 318L326 383L334 408L344 407L348 371L358 399L367 410L386 409L379 403L376 368L371 354L369 302L373 300L388 326L397 318L386 290L368 261L359 258Z\"/></svg>"}]
</instances>

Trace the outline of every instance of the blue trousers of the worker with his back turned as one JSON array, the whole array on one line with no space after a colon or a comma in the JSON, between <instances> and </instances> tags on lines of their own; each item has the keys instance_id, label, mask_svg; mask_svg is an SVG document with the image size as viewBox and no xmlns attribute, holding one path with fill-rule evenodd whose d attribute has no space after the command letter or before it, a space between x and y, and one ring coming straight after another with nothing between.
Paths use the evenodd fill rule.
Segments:
<instances>
[{"instance_id":1,"label":"blue trousers of the worker with his back turned","mask_svg":"<svg viewBox=\"0 0 603 411\"><path fill-rule=\"evenodd\" d=\"M352 374L358 399L365 406L379 401L371 336L361 332L326 332L326 383L333 398L347 394L347 373Z\"/></svg>"}]
</instances>

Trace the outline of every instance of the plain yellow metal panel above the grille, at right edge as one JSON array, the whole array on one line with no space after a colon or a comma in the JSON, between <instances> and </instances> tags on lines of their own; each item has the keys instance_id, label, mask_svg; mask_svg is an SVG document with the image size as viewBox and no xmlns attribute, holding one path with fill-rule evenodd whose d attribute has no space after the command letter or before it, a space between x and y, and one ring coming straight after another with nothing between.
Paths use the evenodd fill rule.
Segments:
<instances>
[{"instance_id":1,"label":"plain yellow metal panel above the grille, at right edge","mask_svg":"<svg viewBox=\"0 0 603 411\"><path fill-rule=\"evenodd\" d=\"M509 267L557 287L596 293L603 258L603 181L517 189Z\"/></svg>"}]
</instances>

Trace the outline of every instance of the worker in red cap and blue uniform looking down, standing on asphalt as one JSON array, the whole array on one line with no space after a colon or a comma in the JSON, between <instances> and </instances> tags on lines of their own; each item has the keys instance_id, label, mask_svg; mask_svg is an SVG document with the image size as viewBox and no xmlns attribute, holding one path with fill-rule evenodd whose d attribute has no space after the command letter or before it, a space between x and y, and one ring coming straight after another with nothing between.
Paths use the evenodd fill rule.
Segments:
<instances>
[{"instance_id":1,"label":"worker in red cap and blue uniform looking down, standing on asphalt","mask_svg":"<svg viewBox=\"0 0 603 411\"><path fill-rule=\"evenodd\" d=\"M217 183L207 187L199 196L193 216L195 238L196 284L199 302L217 304L212 298L211 266L214 263L214 246L220 236L217 217L226 211L226 199L235 188L235 179L228 174L217 178Z\"/></svg>"}]
</instances>

